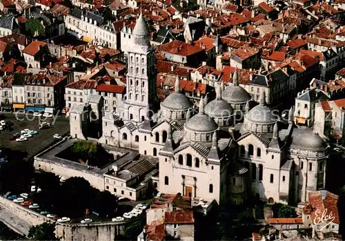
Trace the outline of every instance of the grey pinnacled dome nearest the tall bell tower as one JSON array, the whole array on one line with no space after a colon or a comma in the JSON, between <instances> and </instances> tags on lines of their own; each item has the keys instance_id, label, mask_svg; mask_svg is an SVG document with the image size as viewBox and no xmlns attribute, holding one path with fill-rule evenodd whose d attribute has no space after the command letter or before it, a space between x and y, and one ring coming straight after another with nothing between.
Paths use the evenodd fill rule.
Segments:
<instances>
[{"instance_id":1,"label":"grey pinnacled dome nearest the tall bell tower","mask_svg":"<svg viewBox=\"0 0 345 241\"><path fill-rule=\"evenodd\" d=\"M168 97L164 99L164 102L161 103L161 106L169 110L188 110L188 108L193 106L190 99L186 95L180 93L178 78L175 81L175 92L168 95Z\"/></svg>"}]
</instances>

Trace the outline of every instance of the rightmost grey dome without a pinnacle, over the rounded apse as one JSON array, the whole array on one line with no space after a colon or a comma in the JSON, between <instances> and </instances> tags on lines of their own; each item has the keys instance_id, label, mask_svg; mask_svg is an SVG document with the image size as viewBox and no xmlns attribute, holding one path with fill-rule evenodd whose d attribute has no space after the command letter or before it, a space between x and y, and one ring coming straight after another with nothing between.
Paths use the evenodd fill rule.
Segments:
<instances>
[{"instance_id":1,"label":"rightmost grey dome without a pinnacle, over the rounded apse","mask_svg":"<svg viewBox=\"0 0 345 241\"><path fill-rule=\"evenodd\" d=\"M327 144L313 131L294 130L291 148L306 151L324 151L327 148Z\"/></svg>"}]
</instances>

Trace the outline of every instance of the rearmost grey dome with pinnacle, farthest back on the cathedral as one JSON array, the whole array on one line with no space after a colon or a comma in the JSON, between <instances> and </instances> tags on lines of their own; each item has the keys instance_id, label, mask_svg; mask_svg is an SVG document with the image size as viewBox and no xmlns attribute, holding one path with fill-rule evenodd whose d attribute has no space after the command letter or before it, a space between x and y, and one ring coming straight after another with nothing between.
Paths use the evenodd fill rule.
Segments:
<instances>
[{"instance_id":1,"label":"rearmost grey dome with pinnacle, farthest back on the cathedral","mask_svg":"<svg viewBox=\"0 0 345 241\"><path fill-rule=\"evenodd\" d=\"M252 99L247 90L239 86L237 70L234 73L233 86L229 86L224 90L223 99L230 104L245 103Z\"/></svg>"}]
</instances>

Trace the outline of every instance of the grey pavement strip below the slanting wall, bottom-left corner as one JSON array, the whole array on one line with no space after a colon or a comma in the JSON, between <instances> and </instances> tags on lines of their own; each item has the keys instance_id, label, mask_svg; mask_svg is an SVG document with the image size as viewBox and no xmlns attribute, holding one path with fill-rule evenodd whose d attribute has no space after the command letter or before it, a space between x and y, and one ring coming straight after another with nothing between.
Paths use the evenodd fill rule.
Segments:
<instances>
[{"instance_id":1,"label":"grey pavement strip below the slanting wall, bottom-left corner","mask_svg":"<svg viewBox=\"0 0 345 241\"><path fill-rule=\"evenodd\" d=\"M17 233L28 236L31 224L0 205L0 220Z\"/></svg>"}]
</instances>

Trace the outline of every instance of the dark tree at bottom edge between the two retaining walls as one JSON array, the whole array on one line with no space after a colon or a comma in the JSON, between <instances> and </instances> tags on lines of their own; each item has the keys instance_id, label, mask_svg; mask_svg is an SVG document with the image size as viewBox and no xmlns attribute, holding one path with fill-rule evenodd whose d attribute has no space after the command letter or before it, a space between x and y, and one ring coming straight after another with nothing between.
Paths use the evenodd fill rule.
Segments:
<instances>
[{"instance_id":1,"label":"dark tree at bottom edge between the two retaining walls","mask_svg":"<svg viewBox=\"0 0 345 241\"><path fill-rule=\"evenodd\" d=\"M55 224L43 222L36 226L32 226L29 230L28 238L31 240L59 240L55 237Z\"/></svg>"}]
</instances>

